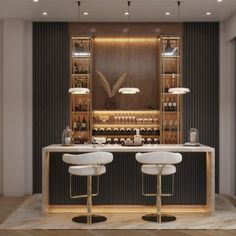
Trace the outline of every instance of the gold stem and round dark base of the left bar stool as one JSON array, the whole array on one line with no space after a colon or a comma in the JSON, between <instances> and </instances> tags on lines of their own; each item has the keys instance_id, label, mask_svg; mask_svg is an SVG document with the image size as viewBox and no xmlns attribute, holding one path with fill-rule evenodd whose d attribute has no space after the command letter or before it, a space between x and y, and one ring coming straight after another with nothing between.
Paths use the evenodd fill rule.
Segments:
<instances>
[{"instance_id":1,"label":"gold stem and round dark base of the left bar stool","mask_svg":"<svg viewBox=\"0 0 236 236\"><path fill-rule=\"evenodd\" d=\"M105 216L92 214L92 176L87 177L87 215L76 216L72 219L76 223L94 224L106 221Z\"/></svg>"}]
</instances>

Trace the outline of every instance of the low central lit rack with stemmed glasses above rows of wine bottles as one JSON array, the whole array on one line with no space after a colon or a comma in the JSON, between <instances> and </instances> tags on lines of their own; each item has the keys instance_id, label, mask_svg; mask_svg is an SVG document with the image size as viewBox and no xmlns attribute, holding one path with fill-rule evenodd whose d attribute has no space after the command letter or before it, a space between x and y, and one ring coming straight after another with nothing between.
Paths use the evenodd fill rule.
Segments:
<instances>
[{"instance_id":1,"label":"low central lit rack with stemmed glasses above rows of wine bottles","mask_svg":"<svg viewBox=\"0 0 236 236\"><path fill-rule=\"evenodd\" d=\"M158 110L96 110L93 111L93 136L106 137L108 144L122 144L140 131L143 143L160 143L160 112Z\"/></svg>"}]
</instances>

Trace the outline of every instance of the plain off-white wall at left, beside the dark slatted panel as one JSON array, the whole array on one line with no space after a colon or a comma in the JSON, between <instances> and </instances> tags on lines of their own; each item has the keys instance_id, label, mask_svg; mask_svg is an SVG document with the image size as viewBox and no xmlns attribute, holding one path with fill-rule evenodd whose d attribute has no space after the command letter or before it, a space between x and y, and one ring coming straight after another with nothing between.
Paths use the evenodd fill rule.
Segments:
<instances>
[{"instance_id":1,"label":"plain off-white wall at left, beside the dark slatted panel","mask_svg":"<svg viewBox=\"0 0 236 236\"><path fill-rule=\"evenodd\" d=\"M3 20L3 194L32 192L32 27Z\"/></svg>"}]
</instances>

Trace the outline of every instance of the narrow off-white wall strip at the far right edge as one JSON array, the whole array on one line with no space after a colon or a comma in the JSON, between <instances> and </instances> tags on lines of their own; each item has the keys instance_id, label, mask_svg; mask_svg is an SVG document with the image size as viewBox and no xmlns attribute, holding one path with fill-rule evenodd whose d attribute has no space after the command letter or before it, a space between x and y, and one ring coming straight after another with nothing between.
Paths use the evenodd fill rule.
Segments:
<instances>
[{"instance_id":1,"label":"narrow off-white wall strip at the far right edge","mask_svg":"<svg viewBox=\"0 0 236 236\"><path fill-rule=\"evenodd\" d=\"M220 24L220 193L236 195L236 14Z\"/></svg>"}]
</instances>

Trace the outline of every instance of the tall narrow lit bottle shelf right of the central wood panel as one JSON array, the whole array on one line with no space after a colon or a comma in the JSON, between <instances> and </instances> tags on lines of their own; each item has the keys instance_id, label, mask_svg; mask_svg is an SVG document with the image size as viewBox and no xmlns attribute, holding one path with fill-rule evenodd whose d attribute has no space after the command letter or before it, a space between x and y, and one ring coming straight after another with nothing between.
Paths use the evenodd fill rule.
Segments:
<instances>
[{"instance_id":1,"label":"tall narrow lit bottle shelf right of the central wood panel","mask_svg":"<svg viewBox=\"0 0 236 236\"><path fill-rule=\"evenodd\" d=\"M180 37L161 37L161 142L181 143L181 101L169 89L180 86Z\"/></svg>"}]
</instances>

